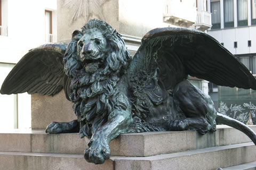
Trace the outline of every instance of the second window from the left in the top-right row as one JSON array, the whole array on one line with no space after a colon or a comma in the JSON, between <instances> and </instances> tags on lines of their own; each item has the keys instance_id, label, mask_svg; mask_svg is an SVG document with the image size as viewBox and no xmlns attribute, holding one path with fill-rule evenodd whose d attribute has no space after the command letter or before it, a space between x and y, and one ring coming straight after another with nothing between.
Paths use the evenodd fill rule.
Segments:
<instances>
[{"instance_id":1,"label":"second window from the left in the top-right row","mask_svg":"<svg viewBox=\"0 0 256 170\"><path fill-rule=\"evenodd\" d=\"M234 1L224 0L224 27L234 27Z\"/></svg>"}]
</instances>

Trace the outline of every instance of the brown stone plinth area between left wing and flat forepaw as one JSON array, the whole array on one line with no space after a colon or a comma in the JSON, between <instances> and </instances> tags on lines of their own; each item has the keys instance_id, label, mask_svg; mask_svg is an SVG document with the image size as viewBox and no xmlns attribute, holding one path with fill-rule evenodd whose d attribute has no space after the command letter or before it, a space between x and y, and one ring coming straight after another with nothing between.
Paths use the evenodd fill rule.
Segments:
<instances>
[{"instance_id":1,"label":"brown stone plinth area between left wing and flat forepaw","mask_svg":"<svg viewBox=\"0 0 256 170\"><path fill-rule=\"evenodd\" d=\"M45 129L53 121L69 122L77 119L72 103L63 90L54 96L31 95L31 128Z\"/></svg>"}]
</instances>

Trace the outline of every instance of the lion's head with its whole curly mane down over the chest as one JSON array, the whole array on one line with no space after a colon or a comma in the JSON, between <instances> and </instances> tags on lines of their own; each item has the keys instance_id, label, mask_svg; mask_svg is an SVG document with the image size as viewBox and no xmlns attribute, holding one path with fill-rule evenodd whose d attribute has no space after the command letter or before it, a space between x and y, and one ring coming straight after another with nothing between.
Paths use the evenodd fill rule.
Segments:
<instances>
[{"instance_id":1,"label":"lion's head with its whole curly mane down over the chest","mask_svg":"<svg viewBox=\"0 0 256 170\"><path fill-rule=\"evenodd\" d=\"M126 107L117 99L116 84L130 60L121 35L104 21L90 20L73 32L63 62L82 137L106 123L113 109Z\"/></svg>"}]
</instances>

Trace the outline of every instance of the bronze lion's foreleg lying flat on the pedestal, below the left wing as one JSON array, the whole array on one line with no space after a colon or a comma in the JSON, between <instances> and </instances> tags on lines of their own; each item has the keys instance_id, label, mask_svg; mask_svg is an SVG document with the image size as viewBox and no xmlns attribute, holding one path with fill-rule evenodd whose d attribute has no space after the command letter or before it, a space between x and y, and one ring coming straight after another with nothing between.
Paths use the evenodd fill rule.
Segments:
<instances>
[{"instance_id":1,"label":"bronze lion's foreleg lying flat on the pedestal, below the left wing","mask_svg":"<svg viewBox=\"0 0 256 170\"><path fill-rule=\"evenodd\" d=\"M46 133L76 133L79 132L80 124L78 120L71 122L52 122L50 123L45 132Z\"/></svg>"}]
</instances>

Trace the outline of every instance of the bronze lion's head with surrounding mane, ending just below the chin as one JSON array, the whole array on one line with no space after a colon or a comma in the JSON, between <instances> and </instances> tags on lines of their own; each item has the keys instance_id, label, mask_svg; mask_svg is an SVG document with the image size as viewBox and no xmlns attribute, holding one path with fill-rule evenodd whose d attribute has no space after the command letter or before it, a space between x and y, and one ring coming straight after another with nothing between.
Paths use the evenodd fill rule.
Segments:
<instances>
[{"instance_id":1,"label":"bronze lion's head with surrounding mane, ending just below the chin","mask_svg":"<svg viewBox=\"0 0 256 170\"><path fill-rule=\"evenodd\" d=\"M71 77L78 69L101 75L125 71L131 56L121 35L105 21L90 20L75 30L65 57L65 71Z\"/></svg>"}]
</instances>

